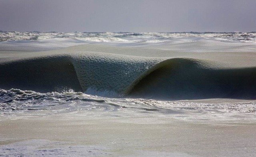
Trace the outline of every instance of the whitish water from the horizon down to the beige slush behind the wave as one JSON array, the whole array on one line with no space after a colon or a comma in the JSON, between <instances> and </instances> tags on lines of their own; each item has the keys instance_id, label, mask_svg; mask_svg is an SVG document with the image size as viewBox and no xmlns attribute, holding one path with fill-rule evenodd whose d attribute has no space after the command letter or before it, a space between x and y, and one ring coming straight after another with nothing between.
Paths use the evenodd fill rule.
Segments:
<instances>
[{"instance_id":1,"label":"whitish water from the horizon down to the beige slush behind the wave","mask_svg":"<svg viewBox=\"0 0 256 157\"><path fill-rule=\"evenodd\" d=\"M80 44L104 44L116 46L132 46L132 47L148 47L161 46L161 49L173 49L175 51L190 51L206 52L228 51L234 46L255 45L255 32L231 32L231 33L216 33L216 32L176 32L176 33L87 33L87 32L0 32L0 50L24 50L24 51L43 51L50 49L58 49L60 47L69 47ZM197 42L202 42L198 45ZM213 46L205 43L216 43ZM180 46L179 44L194 43L196 47ZM196 43L196 44L195 44ZM178 45L177 45L178 44ZM162 47L165 45L164 47ZM178 47L177 47L178 46ZM217 46L217 47L216 47ZM230 47L231 46L231 47ZM208 47L208 48L207 48ZM185 48L185 49L184 49ZM246 48L243 49L247 51ZM230 50L234 52L234 49Z\"/></svg>"}]
</instances>

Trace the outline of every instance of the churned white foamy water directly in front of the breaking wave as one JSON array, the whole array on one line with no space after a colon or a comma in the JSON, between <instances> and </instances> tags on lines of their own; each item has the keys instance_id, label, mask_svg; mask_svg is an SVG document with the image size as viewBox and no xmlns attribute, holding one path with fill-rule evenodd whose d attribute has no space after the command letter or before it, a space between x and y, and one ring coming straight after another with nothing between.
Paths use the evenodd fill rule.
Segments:
<instances>
[{"instance_id":1,"label":"churned white foamy water directly in front of the breaking wave","mask_svg":"<svg viewBox=\"0 0 256 157\"><path fill-rule=\"evenodd\" d=\"M179 120L204 120L205 122L238 121L244 118L250 121L256 120L256 101L234 100L232 103L213 103L213 100L209 102L162 101L106 98L73 91L39 93L18 89L0 90L0 96L0 116L2 117L80 113L120 117L165 116Z\"/></svg>"}]
</instances>

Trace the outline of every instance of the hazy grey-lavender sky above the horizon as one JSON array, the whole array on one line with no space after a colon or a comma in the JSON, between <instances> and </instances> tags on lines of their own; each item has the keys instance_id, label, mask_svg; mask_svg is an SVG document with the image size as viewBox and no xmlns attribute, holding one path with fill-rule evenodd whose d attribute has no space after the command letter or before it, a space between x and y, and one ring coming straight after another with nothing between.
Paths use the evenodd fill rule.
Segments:
<instances>
[{"instance_id":1,"label":"hazy grey-lavender sky above the horizon","mask_svg":"<svg viewBox=\"0 0 256 157\"><path fill-rule=\"evenodd\" d=\"M0 0L2 31L256 31L256 0Z\"/></svg>"}]
</instances>

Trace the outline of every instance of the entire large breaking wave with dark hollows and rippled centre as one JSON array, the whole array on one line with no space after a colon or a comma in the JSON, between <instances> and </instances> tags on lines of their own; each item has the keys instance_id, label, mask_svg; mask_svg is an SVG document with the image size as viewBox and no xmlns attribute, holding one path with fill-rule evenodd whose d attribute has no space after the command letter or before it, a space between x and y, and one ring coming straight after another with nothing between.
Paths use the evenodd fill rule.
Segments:
<instances>
[{"instance_id":1,"label":"entire large breaking wave with dark hollows and rippled centre","mask_svg":"<svg viewBox=\"0 0 256 157\"><path fill-rule=\"evenodd\" d=\"M230 68L202 59L76 52L20 59L1 67L4 89L73 89L101 96L107 91L115 97L164 100L256 99L256 67Z\"/></svg>"}]
</instances>

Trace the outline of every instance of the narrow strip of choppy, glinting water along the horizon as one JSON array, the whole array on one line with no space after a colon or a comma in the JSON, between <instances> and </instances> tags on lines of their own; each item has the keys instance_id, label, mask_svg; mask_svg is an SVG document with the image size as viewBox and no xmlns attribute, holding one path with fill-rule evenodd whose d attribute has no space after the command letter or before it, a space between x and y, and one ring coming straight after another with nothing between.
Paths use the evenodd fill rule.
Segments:
<instances>
[{"instance_id":1,"label":"narrow strip of choppy, glinting water along the horizon","mask_svg":"<svg viewBox=\"0 0 256 157\"><path fill-rule=\"evenodd\" d=\"M20 40L45 40L45 39L75 39L85 43L162 43L166 41L177 42L183 39L191 41L198 39L214 38L218 41L243 41L255 42L256 33L249 32L232 32L232 33L218 33L218 32L176 32L176 33L87 33L87 32L0 32L0 41L20 41Z\"/></svg>"}]
</instances>

